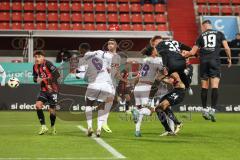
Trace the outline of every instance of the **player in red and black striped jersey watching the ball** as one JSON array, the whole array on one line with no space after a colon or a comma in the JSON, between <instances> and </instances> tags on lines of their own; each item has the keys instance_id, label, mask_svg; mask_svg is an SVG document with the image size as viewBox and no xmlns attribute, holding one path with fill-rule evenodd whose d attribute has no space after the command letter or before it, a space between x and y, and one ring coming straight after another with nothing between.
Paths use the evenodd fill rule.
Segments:
<instances>
[{"instance_id":1,"label":"player in red and black striped jersey watching the ball","mask_svg":"<svg viewBox=\"0 0 240 160\"><path fill-rule=\"evenodd\" d=\"M52 133L56 134L54 125L56 120L56 105L59 89L58 78L60 77L60 74L58 69L50 61L45 59L45 53L43 51L36 51L34 53L34 58L33 81L40 84L40 92L36 101L37 115L42 125L39 135L48 131L42 110L45 103L48 103L50 106L51 129Z\"/></svg>"}]
</instances>

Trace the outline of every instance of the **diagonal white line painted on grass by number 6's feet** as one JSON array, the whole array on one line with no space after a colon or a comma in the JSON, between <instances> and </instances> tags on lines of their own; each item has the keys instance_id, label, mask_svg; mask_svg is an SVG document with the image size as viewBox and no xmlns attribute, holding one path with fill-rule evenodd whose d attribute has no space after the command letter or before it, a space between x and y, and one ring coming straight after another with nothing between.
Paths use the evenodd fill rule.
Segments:
<instances>
[{"instance_id":1,"label":"diagonal white line painted on grass by number 6's feet","mask_svg":"<svg viewBox=\"0 0 240 160\"><path fill-rule=\"evenodd\" d=\"M79 125L78 128L83 132L87 132L87 129L81 125ZM124 155L122 155L116 149L114 149L112 146L110 146L108 143L106 143L102 138L97 138L95 134L93 134L93 136L91 138L93 140L95 140L100 146L105 148L108 152L110 152L114 156L114 158L117 158L117 159L126 158Z\"/></svg>"}]
</instances>

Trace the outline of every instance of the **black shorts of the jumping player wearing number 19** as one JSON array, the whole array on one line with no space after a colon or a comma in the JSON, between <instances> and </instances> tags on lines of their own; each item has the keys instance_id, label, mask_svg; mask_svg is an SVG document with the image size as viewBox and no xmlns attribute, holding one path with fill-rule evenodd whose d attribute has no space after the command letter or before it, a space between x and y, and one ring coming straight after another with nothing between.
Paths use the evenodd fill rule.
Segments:
<instances>
[{"instance_id":1,"label":"black shorts of the jumping player wearing number 19","mask_svg":"<svg viewBox=\"0 0 240 160\"><path fill-rule=\"evenodd\" d=\"M221 77L219 59L201 59L200 61L200 77L205 80L208 78Z\"/></svg>"}]
</instances>

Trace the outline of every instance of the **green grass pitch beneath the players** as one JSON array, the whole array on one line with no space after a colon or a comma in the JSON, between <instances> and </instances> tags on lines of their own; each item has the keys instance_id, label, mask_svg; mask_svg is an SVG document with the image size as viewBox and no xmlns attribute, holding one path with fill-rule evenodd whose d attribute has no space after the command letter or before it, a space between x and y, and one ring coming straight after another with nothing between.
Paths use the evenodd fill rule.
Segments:
<instances>
[{"instance_id":1,"label":"green grass pitch beneath the players","mask_svg":"<svg viewBox=\"0 0 240 160\"><path fill-rule=\"evenodd\" d=\"M177 114L181 117L181 114ZM240 115L217 114L217 122L205 121L200 113L182 118L178 136L159 137L157 120L142 124L142 137L134 137L134 123L111 113L112 134L102 139L129 160L239 160ZM45 112L48 121L48 113ZM96 123L96 121L94 121ZM57 119L58 134L37 135L35 112L0 112L0 159L114 159L113 155L77 127L86 122Z\"/></svg>"}]
</instances>

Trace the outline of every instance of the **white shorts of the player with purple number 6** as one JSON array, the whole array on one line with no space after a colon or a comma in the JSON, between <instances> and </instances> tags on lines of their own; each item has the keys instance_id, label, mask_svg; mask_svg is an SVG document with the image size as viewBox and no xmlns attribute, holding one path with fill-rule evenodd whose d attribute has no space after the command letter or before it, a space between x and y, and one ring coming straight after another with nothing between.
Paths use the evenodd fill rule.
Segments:
<instances>
[{"instance_id":1,"label":"white shorts of the player with purple number 6","mask_svg":"<svg viewBox=\"0 0 240 160\"><path fill-rule=\"evenodd\" d=\"M85 97L89 100L105 102L107 98L113 97L114 87L109 83L90 83L88 84Z\"/></svg>"}]
</instances>

